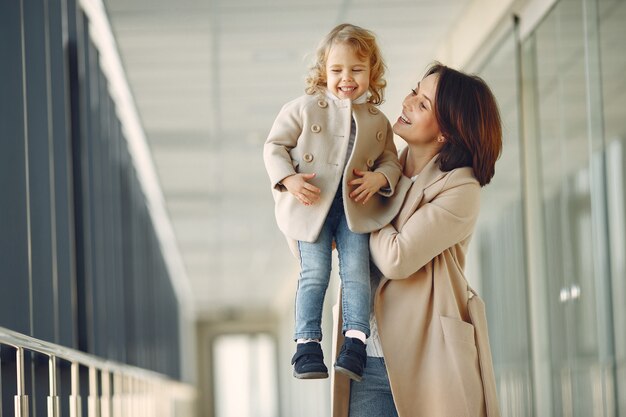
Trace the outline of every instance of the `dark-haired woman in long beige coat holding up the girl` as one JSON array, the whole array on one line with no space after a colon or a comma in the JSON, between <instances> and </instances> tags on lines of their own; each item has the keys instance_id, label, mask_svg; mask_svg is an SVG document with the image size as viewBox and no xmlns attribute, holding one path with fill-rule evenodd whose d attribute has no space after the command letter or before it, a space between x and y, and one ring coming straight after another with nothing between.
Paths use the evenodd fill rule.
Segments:
<instances>
[{"instance_id":1,"label":"dark-haired woman in long beige coat holding up the girl","mask_svg":"<svg viewBox=\"0 0 626 417\"><path fill-rule=\"evenodd\" d=\"M498 416L484 311L468 308L482 301L470 301L463 272L480 187L502 148L495 98L480 78L436 63L393 131L407 143L401 182L413 183L399 214L370 237L377 268L364 379L335 375L333 416Z\"/></svg>"}]
</instances>

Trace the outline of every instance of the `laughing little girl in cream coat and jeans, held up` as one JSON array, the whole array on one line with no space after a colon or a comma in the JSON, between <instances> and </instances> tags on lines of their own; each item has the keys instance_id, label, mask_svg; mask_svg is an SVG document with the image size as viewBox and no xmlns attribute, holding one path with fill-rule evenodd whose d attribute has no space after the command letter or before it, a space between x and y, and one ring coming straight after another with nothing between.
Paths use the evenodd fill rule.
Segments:
<instances>
[{"instance_id":1,"label":"laughing little girl in cream coat and jeans, held up","mask_svg":"<svg viewBox=\"0 0 626 417\"><path fill-rule=\"evenodd\" d=\"M297 241L300 258L296 378L328 377L319 342L333 242L345 335L335 370L357 381L363 374L370 332L369 232L396 214L386 197L401 175L393 131L375 107L383 100L384 71L370 31L337 26L317 50L307 94L283 106L265 142L276 221Z\"/></svg>"}]
</instances>

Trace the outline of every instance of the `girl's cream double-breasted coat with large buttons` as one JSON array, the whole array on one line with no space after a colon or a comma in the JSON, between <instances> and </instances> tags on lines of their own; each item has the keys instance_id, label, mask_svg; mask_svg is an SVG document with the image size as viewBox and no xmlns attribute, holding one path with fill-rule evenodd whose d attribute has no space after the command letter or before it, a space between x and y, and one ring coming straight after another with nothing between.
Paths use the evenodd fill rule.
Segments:
<instances>
[{"instance_id":1,"label":"girl's cream double-breasted coat with large buttons","mask_svg":"<svg viewBox=\"0 0 626 417\"><path fill-rule=\"evenodd\" d=\"M344 166L350 138L351 115L356 123L352 155ZM389 121L375 106L352 104L305 95L293 100L278 114L263 149L265 167L272 183L278 227L286 237L314 242L330 210L343 178L343 201L350 230L367 233L391 221L400 202L390 207L400 178L400 164ZM347 185L354 169L382 173L390 184L367 204L348 197ZM310 182L321 189L320 200L311 206L300 203L280 183L295 173L315 173Z\"/></svg>"}]
</instances>

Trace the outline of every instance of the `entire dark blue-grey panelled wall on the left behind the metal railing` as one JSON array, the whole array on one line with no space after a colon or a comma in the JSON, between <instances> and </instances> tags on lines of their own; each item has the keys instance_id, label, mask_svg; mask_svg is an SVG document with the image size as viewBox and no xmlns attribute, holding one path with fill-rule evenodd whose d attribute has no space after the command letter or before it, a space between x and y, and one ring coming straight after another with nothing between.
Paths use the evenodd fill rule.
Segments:
<instances>
[{"instance_id":1,"label":"entire dark blue-grey panelled wall on the left behind the metal railing","mask_svg":"<svg viewBox=\"0 0 626 417\"><path fill-rule=\"evenodd\" d=\"M176 295L95 44L77 0L0 2L0 326L178 378ZM27 366L40 415L47 362Z\"/></svg>"}]
</instances>

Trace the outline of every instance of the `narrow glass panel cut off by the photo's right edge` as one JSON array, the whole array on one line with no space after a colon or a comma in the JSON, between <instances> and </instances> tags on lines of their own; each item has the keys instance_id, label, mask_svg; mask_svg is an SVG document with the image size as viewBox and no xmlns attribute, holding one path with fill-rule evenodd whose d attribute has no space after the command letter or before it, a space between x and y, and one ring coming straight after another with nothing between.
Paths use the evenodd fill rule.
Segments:
<instances>
[{"instance_id":1,"label":"narrow glass panel cut off by the photo's right edge","mask_svg":"<svg viewBox=\"0 0 626 417\"><path fill-rule=\"evenodd\" d=\"M618 415L626 415L626 2L599 0L600 63L607 143L607 199Z\"/></svg>"}]
</instances>

